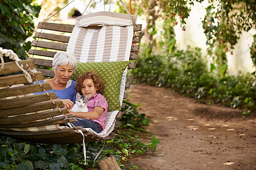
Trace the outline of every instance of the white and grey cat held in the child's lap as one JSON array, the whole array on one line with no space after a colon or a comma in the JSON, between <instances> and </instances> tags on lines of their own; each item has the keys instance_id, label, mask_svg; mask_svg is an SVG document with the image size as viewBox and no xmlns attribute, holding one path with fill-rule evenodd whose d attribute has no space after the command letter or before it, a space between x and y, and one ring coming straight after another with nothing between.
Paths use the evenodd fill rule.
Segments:
<instances>
[{"instance_id":1,"label":"white and grey cat held in the child's lap","mask_svg":"<svg viewBox=\"0 0 256 170\"><path fill-rule=\"evenodd\" d=\"M89 95L83 96L79 93L76 93L76 104L73 105L72 112L88 112L87 103Z\"/></svg>"}]
</instances>

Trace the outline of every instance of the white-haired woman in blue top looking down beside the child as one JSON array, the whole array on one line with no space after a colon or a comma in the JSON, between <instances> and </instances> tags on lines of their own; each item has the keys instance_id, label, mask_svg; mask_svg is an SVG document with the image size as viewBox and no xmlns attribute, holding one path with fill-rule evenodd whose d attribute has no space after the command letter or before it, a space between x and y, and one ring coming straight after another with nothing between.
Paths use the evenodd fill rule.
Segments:
<instances>
[{"instance_id":1,"label":"white-haired woman in blue top looking down beside the child","mask_svg":"<svg viewBox=\"0 0 256 170\"><path fill-rule=\"evenodd\" d=\"M52 90L48 90L47 92L55 92L58 99L63 101L66 109L71 109L76 102L76 82L71 80L71 76L76 67L77 61L73 54L57 52L52 61L52 69L55 76L52 79L39 81L40 83L49 83ZM40 93L44 92L36 92L34 94Z\"/></svg>"}]
</instances>

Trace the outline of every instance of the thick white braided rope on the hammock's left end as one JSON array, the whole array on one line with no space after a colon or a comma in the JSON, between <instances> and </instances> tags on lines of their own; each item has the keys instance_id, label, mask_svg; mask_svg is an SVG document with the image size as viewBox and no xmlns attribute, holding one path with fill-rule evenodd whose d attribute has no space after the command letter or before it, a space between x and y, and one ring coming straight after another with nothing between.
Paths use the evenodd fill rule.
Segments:
<instances>
[{"instance_id":1,"label":"thick white braided rope on the hammock's left end","mask_svg":"<svg viewBox=\"0 0 256 170\"><path fill-rule=\"evenodd\" d=\"M33 81L31 78L31 75L19 65L19 61L21 61L21 59L19 59L17 54L15 54L13 52L13 50L11 50L11 49L3 49L2 47L0 47L0 57L1 57L1 62L2 62L0 71L2 71L2 69L4 69L4 67L5 67L5 62L3 61L3 56L13 59L17 65L17 67L19 67L19 69L22 70L23 73L25 74L25 78L27 79L27 81L30 83ZM36 70L34 70L33 73L36 73Z\"/></svg>"}]
</instances>

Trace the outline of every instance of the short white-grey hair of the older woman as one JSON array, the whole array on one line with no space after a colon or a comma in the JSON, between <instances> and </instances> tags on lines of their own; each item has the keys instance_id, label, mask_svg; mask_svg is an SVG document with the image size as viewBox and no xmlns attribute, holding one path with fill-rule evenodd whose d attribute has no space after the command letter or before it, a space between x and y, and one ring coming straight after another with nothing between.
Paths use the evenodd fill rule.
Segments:
<instances>
[{"instance_id":1,"label":"short white-grey hair of the older woman","mask_svg":"<svg viewBox=\"0 0 256 170\"><path fill-rule=\"evenodd\" d=\"M57 52L52 61L52 69L56 69L57 66L65 66L69 65L73 67L73 69L76 69L77 67L77 60L74 54L69 52Z\"/></svg>"}]
</instances>

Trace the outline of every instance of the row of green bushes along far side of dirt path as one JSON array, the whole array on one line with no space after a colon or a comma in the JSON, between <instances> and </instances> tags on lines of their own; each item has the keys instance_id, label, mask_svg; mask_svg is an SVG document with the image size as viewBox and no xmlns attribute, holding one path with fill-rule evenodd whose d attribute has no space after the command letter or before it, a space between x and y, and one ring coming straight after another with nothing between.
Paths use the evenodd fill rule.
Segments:
<instances>
[{"instance_id":1,"label":"row of green bushes along far side of dirt path","mask_svg":"<svg viewBox=\"0 0 256 170\"><path fill-rule=\"evenodd\" d=\"M208 70L199 48L174 50L168 56L141 56L133 73L139 83L171 87L207 104L245 109L244 115L256 111L255 76L216 75Z\"/></svg>"}]
</instances>

